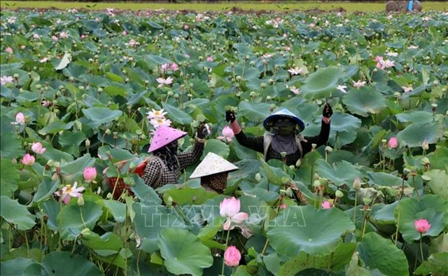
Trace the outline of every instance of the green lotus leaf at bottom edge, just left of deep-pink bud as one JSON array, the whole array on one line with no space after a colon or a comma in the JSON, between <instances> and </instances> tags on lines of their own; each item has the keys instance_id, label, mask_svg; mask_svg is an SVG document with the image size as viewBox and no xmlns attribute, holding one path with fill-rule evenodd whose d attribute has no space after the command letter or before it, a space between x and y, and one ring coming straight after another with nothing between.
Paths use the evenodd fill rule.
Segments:
<instances>
[{"instance_id":1,"label":"green lotus leaf at bottom edge, just left of deep-pink bud","mask_svg":"<svg viewBox=\"0 0 448 276\"><path fill-rule=\"evenodd\" d=\"M202 275L203 268L213 264L210 249L188 230L165 228L159 235L160 254L169 272Z\"/></svg>"}]
</instances>

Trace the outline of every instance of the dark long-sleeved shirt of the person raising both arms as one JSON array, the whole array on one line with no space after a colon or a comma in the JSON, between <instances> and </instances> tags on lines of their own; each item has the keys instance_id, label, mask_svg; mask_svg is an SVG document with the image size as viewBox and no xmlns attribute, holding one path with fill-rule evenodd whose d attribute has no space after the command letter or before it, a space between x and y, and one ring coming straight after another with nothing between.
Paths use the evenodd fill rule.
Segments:
<instances>
[{"instance_id":1,"label":"dark long-sleeved shirt of the person raising both arms","mask_svg":"<svg viewBox=\"0 0 448 276\"><path fill-rule=\"evenodd\" d=\"M318 146L322 146L323 144L326 144L328 141L328 137L330 136L330 124L329 123L323 123L321 124L321 132L318 134L318 136L314 137L304 137L307 142L302 141L300 144L302 144L302 155L309 153L311 151L311 144L316 144L316 148ZM247 137L244 132L239 132L238 134L235 134L235 137L237 138L237 141L241 146L246 146L246 148L253 149L254 151L258 151L260 153L264 153L263 148L263 141L264 137ZM295 165L297 160L300 159L300 151L296 151L295 153L288 154L286 157L286 165ZM280 153L274 151L272 149L272 146L269 145L269 148L267 149L267 160L269 159L278 159L282 160Z\"/></svg>"}]
</instances>

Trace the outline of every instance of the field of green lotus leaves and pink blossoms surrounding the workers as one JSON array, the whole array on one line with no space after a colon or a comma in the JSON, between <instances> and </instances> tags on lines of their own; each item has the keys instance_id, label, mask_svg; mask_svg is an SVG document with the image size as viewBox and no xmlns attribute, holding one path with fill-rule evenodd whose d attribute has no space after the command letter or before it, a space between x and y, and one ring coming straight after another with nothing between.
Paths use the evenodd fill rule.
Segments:
<instances>
[{"instance_id":1,"label":"field of green lotus leaves and pink blossoms surrounding the workers","mask_svg":"<svg viewBox=\"0 0 448 276\"><path fill-rule=\"evenodd\" d=\"M3 9L1 275L447 275L447 37L446 12ZM298 168L226 127L287 108L315 136L327 102ZM197 163L132 173L155 127L185 151L200 123L239 167L223 195Z\"/></svg>"}]
</instances>

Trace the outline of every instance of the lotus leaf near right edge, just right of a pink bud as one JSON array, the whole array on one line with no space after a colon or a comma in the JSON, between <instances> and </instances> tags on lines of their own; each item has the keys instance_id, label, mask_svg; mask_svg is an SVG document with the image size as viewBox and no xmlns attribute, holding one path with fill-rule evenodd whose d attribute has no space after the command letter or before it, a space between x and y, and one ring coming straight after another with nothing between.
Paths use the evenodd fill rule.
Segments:
<instances>
[{"instance_id":1,"label":"lotus leaf near right edge, just right of a pink bud","mask_svg":"<svg viewBox=\"0 0 448 276\"><path fill-rule=\"evenodd\" d=\"M443 136L442 125L438 123L412 123L398 132L397 139L409 147L421 146L427 140L429 144L436 143Z\"/></svg>"}]
</instances>

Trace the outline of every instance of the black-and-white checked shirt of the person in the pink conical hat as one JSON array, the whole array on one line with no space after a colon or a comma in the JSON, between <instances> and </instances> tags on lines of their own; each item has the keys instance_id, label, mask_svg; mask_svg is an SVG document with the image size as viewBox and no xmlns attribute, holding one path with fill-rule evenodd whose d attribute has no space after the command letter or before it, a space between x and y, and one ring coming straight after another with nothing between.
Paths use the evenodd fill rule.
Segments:
<instances>
[{"instance_id":1,"label":"black-and-white checked shirt of the person in the pink conical hat","mask_svg":"<svg viewBox=\"0 0 448 276\"><path fill-rule=\"evenodd\" d=\"M141 178L144 179L146 185L153 188L158 188L164 186L165 184L176 184L181 177L181 171L188 165L191 165L199 160L202 155L202 151L204 151L204 143L196 141L193 145L192 151L178 152L177 160L179 161L179 169L174 171L168 169L165 165L165 160L162 160L163 162L161 162L160 158L153 158L148 165L146 165ZM155 181L158 179L161 171L162 177L160 177L159 183L155 184Z\"/></svg>"}]
</instances>

